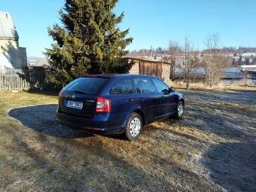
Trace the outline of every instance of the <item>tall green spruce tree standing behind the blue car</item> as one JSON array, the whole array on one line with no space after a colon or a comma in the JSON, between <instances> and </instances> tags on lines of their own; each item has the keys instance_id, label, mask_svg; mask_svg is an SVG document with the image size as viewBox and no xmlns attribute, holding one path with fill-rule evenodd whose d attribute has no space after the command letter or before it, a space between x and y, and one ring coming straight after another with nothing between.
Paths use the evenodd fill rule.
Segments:
<instances>
[{"instance_id":1,"label":"tall green spruce tree standing behind the blue car","mask_svg":"<svg viewBox=\"0 0 256 192\"><path fill-rule=\"evenodd\" d=\"M59 11L63 26L48 28L54 43L46 49L50 62L50 81L57 87L84 74L126 72L121 56L133 38L129 29L120 31L112 9L118 0L66 0Z\"/></svg>"}]
</instances>

